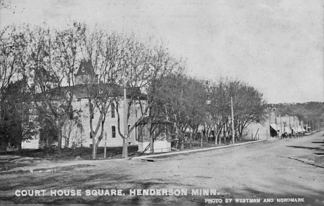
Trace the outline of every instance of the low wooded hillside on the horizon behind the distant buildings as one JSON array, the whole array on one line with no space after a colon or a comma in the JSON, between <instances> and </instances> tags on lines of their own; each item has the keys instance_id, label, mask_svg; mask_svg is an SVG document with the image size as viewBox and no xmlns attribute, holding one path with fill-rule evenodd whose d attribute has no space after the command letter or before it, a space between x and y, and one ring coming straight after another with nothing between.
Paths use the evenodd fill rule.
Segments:
<instances>
[{"instance_id":1,"label":"low wooded hillside on the horizon behind the distant buildings","mask_svg":"<svg viewBox=\"0 0 324 206\"><path fill-rule=\"evenodd\" d=\"M276 115L297 116L302 121L313 121L314 123L323 123L324 121L324 103L279 103L273 104L276 108Z\"/></svg>"}]
</instances>

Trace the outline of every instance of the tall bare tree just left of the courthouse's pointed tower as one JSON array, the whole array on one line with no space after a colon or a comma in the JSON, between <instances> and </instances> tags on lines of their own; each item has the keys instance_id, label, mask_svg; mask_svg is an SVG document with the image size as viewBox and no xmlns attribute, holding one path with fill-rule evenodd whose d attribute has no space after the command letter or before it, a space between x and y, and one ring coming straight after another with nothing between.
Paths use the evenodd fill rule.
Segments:
<instances>
[{"instance_id":1,"label":"tall bare tree just left of the courthouse's pointed tower","mask_svg":"<svg viewBox=\"0 0 324 206\"><path fill-rule=\"evenodd\" d=\"M33 94L39 126L55 131L58 153L62 147L64 122L73 120L73 74L77 68L76 46L82 31L77 25L64 31L40 26L26 28L28 34L28 84Z\"/></svg>"}]
</instances>

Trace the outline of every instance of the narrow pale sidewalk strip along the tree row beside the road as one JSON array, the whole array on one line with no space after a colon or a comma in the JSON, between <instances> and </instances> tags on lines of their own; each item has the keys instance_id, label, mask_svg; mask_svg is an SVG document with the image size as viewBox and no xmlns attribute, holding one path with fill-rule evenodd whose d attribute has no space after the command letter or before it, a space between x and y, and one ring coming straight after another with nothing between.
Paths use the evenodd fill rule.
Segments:
<instances>
[{"instance_id":1,"label":"narrow pale sidewalk strip along the tree row beside the road","mask_svg":"<svg viewBox=\"0 0 324 206\"><path fill-rule=\"evenodd\" d=\"M244 144L253 144L253 143L258 143L261 141L267 141L265 139L262 140L256 140L256 141L247 141L247 142L243 142L243 143L238 143L238 144L231 144L231 145L224 145L224 146L215 146L215 147L211 147L211 148L201 148L201 149L194 149L194 150L190 150L190 151L179 151L179 152L172 152L172 153L162 153L162 154L158 154L158 155L145 155L145 156L140 156L140 157L132 157L130 159L132 160L136 160L136 159L147 159L150 157L163 157L163 156L170 156L170 155L181 155L181 154L185 154L185 153L197 153L197 152L202 152L202 151L211 151L211 150L217 150L217 149L221 149L221 148L228 148L228 147L233 147L233 146L241 146Z\"/></svg>"}]
</instances>

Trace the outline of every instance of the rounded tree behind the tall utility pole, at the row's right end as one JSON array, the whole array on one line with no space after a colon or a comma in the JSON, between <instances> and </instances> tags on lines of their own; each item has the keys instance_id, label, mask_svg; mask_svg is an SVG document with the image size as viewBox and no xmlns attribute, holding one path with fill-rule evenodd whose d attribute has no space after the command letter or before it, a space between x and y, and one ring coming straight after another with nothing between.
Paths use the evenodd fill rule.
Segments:
<instances>
[{"instance_id":1,"label":"rounded tree behind the tall utility pole, at the row's right end","mask_svg":"<svg viewBox=\"0 0 324 206\"><path fill-rule=\"evenodd\" d=\"M209 90L211 103L208 105L208 114L210 122L215 124L217 137L215 141L219 142L221 132L223 132L224 138L226 134L230 136L229 134L232 133L232 121L229 121L231 119L231 98L233 98L234 128L240 138L242 138L244 129L252 122L264 121L264 100L262 94L255 88L240 80L220 78L218 82L211 84ZM228 141L230 141L229 138Z\"/></svg>"}]
</instances>

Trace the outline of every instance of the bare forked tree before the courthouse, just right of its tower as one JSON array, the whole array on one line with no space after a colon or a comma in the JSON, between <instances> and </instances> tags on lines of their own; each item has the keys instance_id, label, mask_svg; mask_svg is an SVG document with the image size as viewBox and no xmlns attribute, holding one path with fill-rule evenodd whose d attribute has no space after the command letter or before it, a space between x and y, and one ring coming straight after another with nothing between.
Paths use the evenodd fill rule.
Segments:
<instances>
[{"instance_id":1,"label":"bare forked tree before the courthouse, just right of its tower","mask_svg":"<svg viewBox=\"0 0 324 206\"><path fill-rule=\"evenodd\" d=\"M118 80L124 67L122 61L125 58L126 43L123 35L108 33L98 28L84 35L82 40L84 59L90 62L93 69L92 79L83 81L87 88L93 159L96 159L97 148L105 132L107 111L122 91ZM96 110L100 115L97 120L93 120Z\"/></svg>"}]
</instances>

